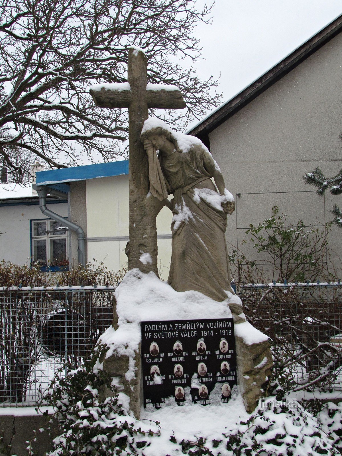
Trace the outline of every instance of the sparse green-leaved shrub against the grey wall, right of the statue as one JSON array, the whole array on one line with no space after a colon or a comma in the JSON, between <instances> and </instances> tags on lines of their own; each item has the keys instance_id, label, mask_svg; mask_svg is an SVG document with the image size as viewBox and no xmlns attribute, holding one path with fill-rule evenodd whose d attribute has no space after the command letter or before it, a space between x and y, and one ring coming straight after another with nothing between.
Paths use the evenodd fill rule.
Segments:
<instances>
[{"instance_id":1,"label":"sparse green-leaved shrub against the grey wall, right of the statue","mask_svg":"<svg viewBox=\"0 0 342 456\"><path fill-rule=\"evenodd\" d=\"M328 233L325 229L307 228L302 220L295 224L286 214L279 214L279 207L272 207L272 216L258 225L249 224L248 238L242 244L248 254L239 249L229 256L232 274L238 287L243 283L304 282L329 279L336 271L328 271ZM246 250L246 249L244 249ZM340 270L341 272L341 270Z\"/></svg>"}]
</instances>

